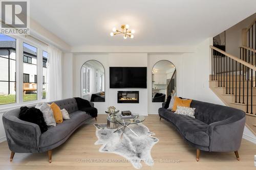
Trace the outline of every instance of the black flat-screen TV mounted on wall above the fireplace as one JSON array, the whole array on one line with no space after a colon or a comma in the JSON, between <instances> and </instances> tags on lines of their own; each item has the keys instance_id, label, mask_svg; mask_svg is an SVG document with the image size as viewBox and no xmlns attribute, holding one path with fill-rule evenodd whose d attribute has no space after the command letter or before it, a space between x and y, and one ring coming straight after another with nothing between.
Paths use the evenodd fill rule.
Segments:
<instances>
[{"instance_id":1,"label":"black flat-screen TV mounted on wall above the fireplace","mask_svg":"<svg viewBox=\"0 0 256 170\"><path fill-rule=\"evenodd\" d=\"M110 88L146 88L146 67L110 67Z\"/></svg>"}]
</instances>

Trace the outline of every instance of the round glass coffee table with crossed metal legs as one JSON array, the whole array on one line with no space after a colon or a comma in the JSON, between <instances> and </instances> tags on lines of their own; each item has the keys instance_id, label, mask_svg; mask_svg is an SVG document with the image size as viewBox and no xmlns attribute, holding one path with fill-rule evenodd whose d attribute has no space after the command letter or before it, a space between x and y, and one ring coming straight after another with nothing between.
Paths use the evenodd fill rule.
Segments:
<instances>
[{"instance_id":1,"label":"round glass coffee table with crossed metal legs","mask_svg":"<svg viewBox=\"0 0 256 170\"><path fill-rule=\"evenodd\" d=\"M138 136L130 127L129 125L132 125L132 124L139 124L141 122L143 122L145 120L145 117L144 116L141 116L141 115L136 115L136 114L133 114L135 117L134 118L120 118L121 114L116 114L115 116L108 116L108 120L114 124L118 124L118 125L121 125L120 128L118 128L117 130L115 130L113 133L123 129L123 132L120 136L120 139L125 131L126 128L128 128L131 132L133 132L133 134L135 134L136 136ZM138 136L139 137L139 136Z\"/></svg>"}]
</instances>

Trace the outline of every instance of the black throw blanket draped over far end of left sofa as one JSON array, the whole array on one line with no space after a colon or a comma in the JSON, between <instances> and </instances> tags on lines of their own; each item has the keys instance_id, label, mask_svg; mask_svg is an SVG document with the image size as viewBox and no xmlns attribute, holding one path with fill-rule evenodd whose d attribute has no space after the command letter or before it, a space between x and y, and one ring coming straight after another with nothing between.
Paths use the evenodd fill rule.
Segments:
<instances>
[{"instance_id":1,"label":"black throw blanket draped over far end of left sofa","mask_svg":"<svg viewBox=\"0 0 256 170\"><path fill-rule=\"evenodd\" d=\"M95 107L92 107L88 100L82 98L75 98L75 100L79 110L90 114L92 117L97 117L98 110Z\"/></svg>"}]
</instances>

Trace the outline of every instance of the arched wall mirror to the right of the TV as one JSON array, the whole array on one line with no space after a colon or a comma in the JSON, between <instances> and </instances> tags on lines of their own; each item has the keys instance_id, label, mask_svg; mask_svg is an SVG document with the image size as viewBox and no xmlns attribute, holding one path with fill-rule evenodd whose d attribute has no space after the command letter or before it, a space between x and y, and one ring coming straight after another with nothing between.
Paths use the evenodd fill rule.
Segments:
<instances>
[{"instance_id":1,"label":"arched wall mirror to the right of the TV","mask_svg":"<svg viewBox=\"0 0 256 170\"><path fill-rule=\"evenodd\" d=\"M165 102L176 95L176 68L167 60L158 61L152 69L152 102Z\"/></svg>"}]
</instances>

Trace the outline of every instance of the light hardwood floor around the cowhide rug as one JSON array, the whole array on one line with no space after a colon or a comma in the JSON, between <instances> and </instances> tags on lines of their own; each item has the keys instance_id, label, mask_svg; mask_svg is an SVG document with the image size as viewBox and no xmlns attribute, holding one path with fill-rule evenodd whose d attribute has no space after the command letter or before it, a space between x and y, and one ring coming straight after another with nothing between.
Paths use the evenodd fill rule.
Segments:
<instances>
[{"instance_id":1,"label":"light hardwood floor around the cowhide rug","mask_svg":"<svg viewBox=\"0 0 256 170\"><path fill-rule=\"evenodd\" d=\"M123 157L100 153L101 145L94 145L97 140L95 119L83 125L60 147L52 151L52 163L48 162L48 153L20 154L15 153L12 162L7 142L0 143L0 169L134 169L129 162L86 162L87 160L116 159ZM97 123L106 123L106 115L99 115ZM158 115L146 116L143 123L159 139L152 149L154 166L142 163L141 169L254 169L256 145L243 139L239 150L240 161L234 152L209 153L201 151L200 161L196 161L196 149L184 142L181 135L164 119L159 121ZM163 161L169 162L163 162ZM177 160L178 163L171 162Z\"/></svg>"}]
</instances>

